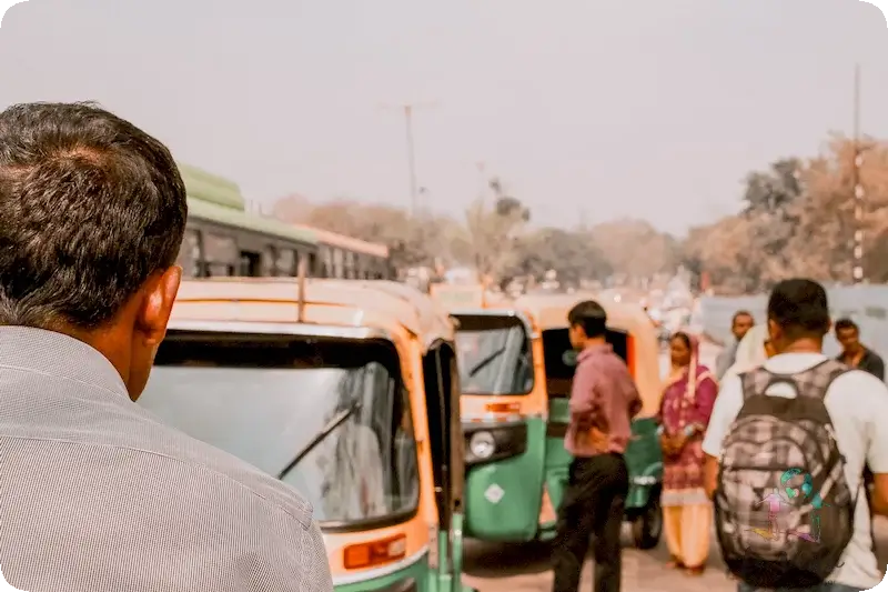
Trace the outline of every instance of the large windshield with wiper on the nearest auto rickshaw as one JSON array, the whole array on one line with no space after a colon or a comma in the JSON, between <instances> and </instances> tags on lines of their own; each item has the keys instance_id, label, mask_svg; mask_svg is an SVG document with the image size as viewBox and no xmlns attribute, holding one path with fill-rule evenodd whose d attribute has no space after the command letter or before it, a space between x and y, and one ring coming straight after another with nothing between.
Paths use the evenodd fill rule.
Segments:
<instances>
[{"instance_id":1,"label":"large windshield with wiper on the nearest auto rickshaw","mask_svg":"<svg viewBox=\"0 0 888 592\"><path fill-rule=\"evenodd\" d=\"M281 478L322 528L341 529L417 508L398 369L384 341L171 333L139 403L273 476L310 446Z\"/></svg>"}]
</instances>

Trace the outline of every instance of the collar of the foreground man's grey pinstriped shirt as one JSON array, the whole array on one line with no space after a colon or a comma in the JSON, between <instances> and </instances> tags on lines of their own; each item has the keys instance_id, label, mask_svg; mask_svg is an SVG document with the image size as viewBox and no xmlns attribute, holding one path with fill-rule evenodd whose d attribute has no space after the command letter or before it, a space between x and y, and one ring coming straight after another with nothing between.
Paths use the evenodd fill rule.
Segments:
<instances>
[{"instance_id":1,"label":"collar of the foreground man's grey pinstriped shirt","mask_svg":"<svg viewBox=\"0 0 888 592\"><path fill-rule=\"evenodd\" d=\"M12 368L98 387L129 399L118 370L98 350L56 331L0 327L0 370Z\"/></svg>"}]
</instances>

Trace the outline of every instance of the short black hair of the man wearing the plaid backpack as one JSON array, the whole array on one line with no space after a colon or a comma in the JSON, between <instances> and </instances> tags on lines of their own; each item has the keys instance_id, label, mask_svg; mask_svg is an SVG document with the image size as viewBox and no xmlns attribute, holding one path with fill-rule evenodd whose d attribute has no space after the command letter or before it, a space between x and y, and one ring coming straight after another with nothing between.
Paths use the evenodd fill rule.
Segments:
<instances>
[{"instance_id":1,"label":"short black hair of the man wearing the plaid backpack","mask_svg":"<svg viewBox=\"0 0 888 592\"><path fill-rule=\"evenodd\" d=\"M784 280L770 293L768 319L780 325L790 339L823 338L829 330L826 290L814 280Z\"/></svg>"}]
</instances>

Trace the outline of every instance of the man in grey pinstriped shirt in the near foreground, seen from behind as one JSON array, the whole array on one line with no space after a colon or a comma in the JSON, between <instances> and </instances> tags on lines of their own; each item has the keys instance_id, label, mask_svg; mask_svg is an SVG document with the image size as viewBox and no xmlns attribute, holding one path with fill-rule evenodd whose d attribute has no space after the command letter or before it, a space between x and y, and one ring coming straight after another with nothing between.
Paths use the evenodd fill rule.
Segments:
<instances>
[{"instance_id":1,"label":"man in grey pinstriped shirt in the near foreground, seen from behind","mask_svg":"<svg viewBox=\"0 0 888 592\"><path fill-rule=\"evenodd\" d=\"M0 589L330 592L311 506L137 405L181 279L169 150L91 104L0 112Z\"/></svg>"}]
</instances>

